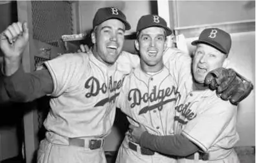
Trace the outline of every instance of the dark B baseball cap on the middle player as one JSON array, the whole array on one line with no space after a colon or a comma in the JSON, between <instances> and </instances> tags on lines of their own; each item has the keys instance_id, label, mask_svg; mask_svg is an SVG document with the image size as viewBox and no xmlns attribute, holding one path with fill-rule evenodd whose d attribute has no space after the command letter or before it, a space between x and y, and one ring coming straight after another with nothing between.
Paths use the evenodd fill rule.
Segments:
<instances>
[{"instance_id":1,"label":"dark B baseball cap on the middle player","mask_svg":"<svg viewBox=\"0 0 256 163\"><path fill-rule=\"evenodd\" d=\"M166 30L167 36L172 34L172 30L167 27L166 20L162 19L162 17L160 17L159 15L143 15L139 19L136 31L140 32L141 30L148 27L162 27L164 30Z\"/></svg>"}]
</instances>

